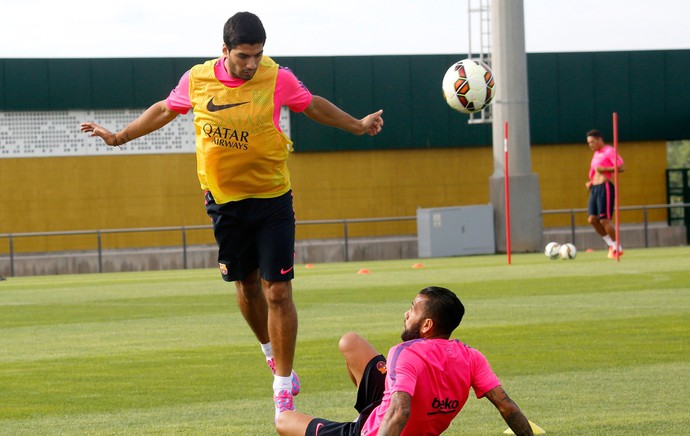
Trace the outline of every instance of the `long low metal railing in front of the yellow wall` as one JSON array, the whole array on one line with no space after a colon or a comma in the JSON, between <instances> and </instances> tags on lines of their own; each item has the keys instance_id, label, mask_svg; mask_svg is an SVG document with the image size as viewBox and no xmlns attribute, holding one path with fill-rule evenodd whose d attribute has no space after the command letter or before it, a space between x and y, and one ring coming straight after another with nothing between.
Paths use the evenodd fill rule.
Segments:
<instances>
[{"instance_id":1,"label":"long low metal railing in front of the yellow wall","mask_svg":"<svg viewBox=\"0 0 690 436\"><path fill-rule=\"evenodd\" d=\"M685 208L685 214L690 214L690 203L674 203L674 204L653 204L645 206L623 206L621 211L635 211L641 210L643 212L643 226L644 226L644 246L649 246L649 221L648 212L656 209L671 209L671 208ZM586 213L587 209L552 209L542 211L542 215L569 215L570 216L570 231L572 240L575 240L575 215ZM342 240L344 259L349 259L349 242L350 230L352 224L361 223L376 223L376 222L398 222L398 221L416 221L416 216L402 216L402 217L384 217L384 218L355 218L355 219L332 219L332 220L311 220L311 221L297 221L297 226L313 226L313 225L342 225ZM105 234L116 233L145 233L145 232L180 232L180 242L182 246L183 268L187 269L187 251L189 244L187 242L187 232L190 230L212 229L211 225L198 226L178 226L178 227L144 227L144 228L130 228L130 229L108 229L108 230L74 230L74 231L56 231L56 232L30 232L30 233L0 233L0 239L7 239L9 247L9 261L10 261L10 276L14 276L14 263L17 253L15 252L14 242L18 238L41 237L41 236L70 236L70 235L94 235L96 237L96 251L98 255L98 271L103 272L103 240ZM690 231L688 231L690 234Z\"/></svg>"}]
</instances>

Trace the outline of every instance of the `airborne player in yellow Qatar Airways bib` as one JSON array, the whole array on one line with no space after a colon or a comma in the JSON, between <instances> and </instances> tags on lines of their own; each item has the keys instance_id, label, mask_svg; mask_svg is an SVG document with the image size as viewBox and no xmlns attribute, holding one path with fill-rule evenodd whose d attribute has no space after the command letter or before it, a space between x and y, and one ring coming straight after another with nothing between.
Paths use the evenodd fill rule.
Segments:
<instances>
[{"instance_id":1,"label":"airborne player in yellow Qatar Airways bib","mask_svg":"<svg viewBox=\"0 0 690 436\"><path fill-rule=\"evenodd\" d=\"M295 212L286 163L292 141L280 129L280 108L372 136L381 131L383 111L356 119L312 95L290 70L264 56L265 41L259 17L239 12L225 23L222 56L192 67L166 100L119 132L95 123L82 123L81 130L119 146L194 111L197 172L221 276L235 282L237 304L273 371L277 414L294 409L300 390L292 370Z\"/></svg>"}]
</instances>

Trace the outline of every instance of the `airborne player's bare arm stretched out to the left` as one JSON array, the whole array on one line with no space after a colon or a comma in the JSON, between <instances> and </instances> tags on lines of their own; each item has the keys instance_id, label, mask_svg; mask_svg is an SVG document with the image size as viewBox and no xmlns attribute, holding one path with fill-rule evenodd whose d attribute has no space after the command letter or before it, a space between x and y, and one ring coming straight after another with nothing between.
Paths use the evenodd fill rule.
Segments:
<instances>
[{"instance_id":1,"label":"airborne player's bare arm stretched out to the left","mask_svg":"<svg viewBox=\"0 0 690 436\"><path fill-rule=\"evenodd\" d=\"M146 109L146 111L141 114L139 118L132 121L120 132L113 133L110 130L99 126L98 124L91 122L82 123L80 129L82 132L91 133L90 136L98 136L102 138L103 142L108 145L123 145L133 139L160 129L170 121L174 120L177 115L179 115L177 112L168 108L165 100L161 100L158 103L154 103L150 108Z\"/></svg>"}]
</instances>

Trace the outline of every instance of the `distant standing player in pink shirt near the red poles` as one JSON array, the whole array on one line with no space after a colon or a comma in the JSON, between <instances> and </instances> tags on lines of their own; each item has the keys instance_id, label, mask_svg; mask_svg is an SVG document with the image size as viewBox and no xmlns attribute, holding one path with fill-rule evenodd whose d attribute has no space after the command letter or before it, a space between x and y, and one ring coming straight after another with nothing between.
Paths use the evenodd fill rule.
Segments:
<instances>
[{"instance_id":1,"label":"distant standing player in pink shirt near the red poles","mask_svg":"<svg viewBox=\"0 0 690 436\"><path fill-rule=\"evenodd\" d=\"M598 130L587 132L587 145L594 152L589 166L589 180L585 186L589 190L589 217L587 221L602 237L609 247L609 259L623 254L620 243L616 244L616 230L613 227L613 207L616 199L615 187L611 179L618 166L618 172L625 171L625 162L616 156L616 150L604 143L604 135Z\"/></svg>"}]
</instances>

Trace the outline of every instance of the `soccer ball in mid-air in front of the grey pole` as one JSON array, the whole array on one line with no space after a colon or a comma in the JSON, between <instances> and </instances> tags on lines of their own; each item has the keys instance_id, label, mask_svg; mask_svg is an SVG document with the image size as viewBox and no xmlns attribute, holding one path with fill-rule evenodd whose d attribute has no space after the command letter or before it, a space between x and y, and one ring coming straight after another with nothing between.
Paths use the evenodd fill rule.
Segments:
<instances>
[{"instance_id":1,"label":"soccer ball in mid-air in front of the grey pole","mask_svg":"<svg viewBox=\"0 0 690 436\"><path fill-rule=\"evenodd\" d=\"M484 62L472 59L451 65L441 86L448 106L465 114L487 107L496 93L494 73Z\"/></svg>"}]
</instances>

